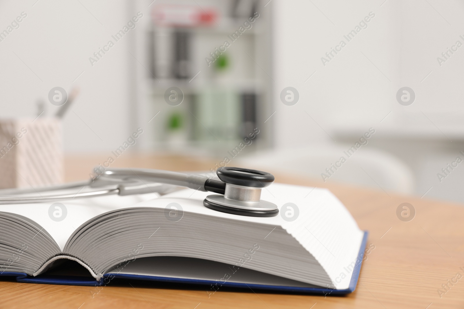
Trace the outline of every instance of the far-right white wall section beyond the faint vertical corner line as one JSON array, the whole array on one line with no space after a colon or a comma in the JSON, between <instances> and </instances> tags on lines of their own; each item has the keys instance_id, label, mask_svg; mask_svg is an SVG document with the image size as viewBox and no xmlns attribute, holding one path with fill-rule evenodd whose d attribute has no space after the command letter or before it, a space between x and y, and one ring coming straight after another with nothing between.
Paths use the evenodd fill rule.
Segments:
<instances>
[{"instance_id":1,"label":"far-right white wall section beyond the faint vertical corner line","mask_svg":"<svg viewBox=\"0 0 464 309\"><path fill-rule=\"evenodd\" d=\"M432 121L437 121L440 127L448 126L449 120L459 121L453 114L459 111L462 116L464 111L460 69L464 65L464 46L441 66L437 61L437 57L457 40L464 44L459 38L459 35L464 37L464 3L459 0L429 3L401 2L401 82L414 85L410 87L416 88L420 100L420 104L412 105L410 110L432 113Z\"/></svg>"}]
</instances>

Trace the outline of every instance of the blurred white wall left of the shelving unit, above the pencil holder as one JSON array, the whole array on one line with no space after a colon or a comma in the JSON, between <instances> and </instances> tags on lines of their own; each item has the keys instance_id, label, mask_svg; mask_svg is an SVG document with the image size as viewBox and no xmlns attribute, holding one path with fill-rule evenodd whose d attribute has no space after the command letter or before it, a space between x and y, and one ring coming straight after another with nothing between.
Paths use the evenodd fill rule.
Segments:
<instances>
[{"instance_id":1,"label":"blurred white wall left of the shelving unit, above the pencil holder","mask_svg":"<svg viewBox=\"0 0 464 309\"><path fill-rule=\"evenodd\" d=\"M49 90L78 86L81 93L64 118L65 151L116 148L135 130L128 117L128 42L139 29L129 31L93 66L89 57L136 12L123 0L35 2L0 2L0 31L27 13L0 42L1 117L35 117L37 99L45 100L48 115L54 114ZM149 19L148 11L143 13Z\"/></svg>"}]
</instances>

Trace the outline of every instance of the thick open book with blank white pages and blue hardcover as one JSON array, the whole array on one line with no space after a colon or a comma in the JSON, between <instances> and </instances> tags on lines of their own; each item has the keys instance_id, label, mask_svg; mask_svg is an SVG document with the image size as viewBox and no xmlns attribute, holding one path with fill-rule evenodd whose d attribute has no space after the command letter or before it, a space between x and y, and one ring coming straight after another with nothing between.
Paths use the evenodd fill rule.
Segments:
<instances>
[{"instance_id":1,"label":"thick open book with blank white pages and blue hardcover","mask_svg":"<svg viewBox=\"0 0 464 309\"><path fill-rule=\"evenodd\" d=\"M354 290L367 233L329 190L274 183L261 196L280 209L270 218L206 208L208 194L108 195L61 201L65 209L0 205L0 275L58 284L114 277L198 283L210 293L222 286ZM62 259L88 277L47 277Z\"/></svg>"}]
</instances>

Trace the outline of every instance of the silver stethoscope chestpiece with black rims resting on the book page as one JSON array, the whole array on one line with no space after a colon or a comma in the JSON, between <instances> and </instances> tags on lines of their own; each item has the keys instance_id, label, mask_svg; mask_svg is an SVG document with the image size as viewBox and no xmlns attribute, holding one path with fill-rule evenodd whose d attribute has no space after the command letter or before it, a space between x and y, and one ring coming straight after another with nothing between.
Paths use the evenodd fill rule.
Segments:
<instances>
[{"instance_id":1,"label":"silver stethoscope chestpiece with black rims resting on the book page","mask_svg":"<svg viewBox=\"0 0 464 309\"><path fill-rule=\"evenodd\" d=\"M261 189L274 182L274 176L260 170L220 167L219 179L226 183L224 195L208 195L203 201L207 208L228 214L252 217L274 217L277 205L261 200Z\"/></svg>"}]
</instances>

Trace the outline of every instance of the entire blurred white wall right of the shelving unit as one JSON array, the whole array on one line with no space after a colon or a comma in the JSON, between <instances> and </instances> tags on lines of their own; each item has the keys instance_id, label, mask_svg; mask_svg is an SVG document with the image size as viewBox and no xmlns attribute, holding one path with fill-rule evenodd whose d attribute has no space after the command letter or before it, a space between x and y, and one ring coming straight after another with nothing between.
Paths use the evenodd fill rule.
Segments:
<instances>
[{"instance_id":1,"label":"entire blurred white wall right of the shelving unit","mask_svg":"<svg viewBox=\"0 0 464 309\"><path fill-rule=\"evenodd\" d=\"M462 139L464 88L460 68L464 48L441 66L437 61L457 40L464 44L464 39L459 38L460 34L464 37L462 1L272 3L277 145L297 145L301 137L306 143L331 140L320 126L334 134L373 126L395 134L425 132L444 137L438 127ZM367 29L322 65L325 52L345 40L343 35L371 11L375 18ZM300 92L300 102L292 107L279 99L280 91L287 86ZM398 89L404 86L416 93L411 106L401 106L395 99Z\"/></svg>"}]
</instances>

